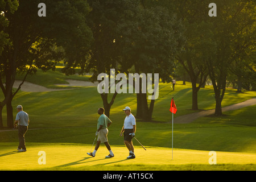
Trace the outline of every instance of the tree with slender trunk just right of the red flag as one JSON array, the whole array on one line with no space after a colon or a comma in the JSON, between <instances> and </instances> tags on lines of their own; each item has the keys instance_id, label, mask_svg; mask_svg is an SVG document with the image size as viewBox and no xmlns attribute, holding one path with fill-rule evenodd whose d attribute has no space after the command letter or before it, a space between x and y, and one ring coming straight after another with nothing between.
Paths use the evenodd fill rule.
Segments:
<instances>
[{"instance_id":1,"label":"tree with slender trunk just right of the red flag","mask_svg":"<svg viewBox=\"0 0 256 182\"><path fill-rule=\"evenodd\" d=\"M187 24L187 42L184 51L177 55L177 60L191 79L192 110L198 110L197 93L208 76L205 60L211 52L207 50L214 49L214 43L209 39L209 27L210 25L205 22Z\"/></svg>"}]
</instances>

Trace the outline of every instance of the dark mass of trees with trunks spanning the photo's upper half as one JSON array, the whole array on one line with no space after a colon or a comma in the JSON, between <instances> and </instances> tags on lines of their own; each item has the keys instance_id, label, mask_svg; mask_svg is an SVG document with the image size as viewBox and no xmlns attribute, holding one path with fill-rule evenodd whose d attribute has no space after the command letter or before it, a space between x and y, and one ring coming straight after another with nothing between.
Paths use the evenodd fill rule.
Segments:
<instances>
[{"instance_id":1,"label":"dark mass of trees with trunks spanning the photo's upper half","mask_svg":"<svg viewBox=\"0 0 256 182\"><path fill-rule=\"evenodd\" d=\"M38 15L42 2L46 16ZM110 75L110 69L126 75L159 73L163 82L187 72L195 110L197 92L209 77L215 114L222 114L227 81L237 84L238 92L250 85L256 89L256 6L253 0L214 3L217 16L210 17L205 1L0 0L0 88L5 97L0 127L5 105L7 126L13 127L11 102L27 75L54 70L60 60L63 73L73 75L80 67L79 74L93 73L91 81L100 73ZM183 68L174 73L177 63ZM17 73L24 78L14 90ZM117 94L101 93L106 115ZM152 119L154 102L137 93L137 118Z\"/></svg>"}]
</instances>

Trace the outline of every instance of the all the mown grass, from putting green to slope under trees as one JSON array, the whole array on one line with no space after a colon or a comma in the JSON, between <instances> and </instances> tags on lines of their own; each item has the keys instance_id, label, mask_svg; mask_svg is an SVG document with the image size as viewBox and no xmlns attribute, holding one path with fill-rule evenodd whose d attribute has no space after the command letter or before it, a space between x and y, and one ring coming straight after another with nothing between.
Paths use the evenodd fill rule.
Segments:
<instances>
[{"instance_id":1,"label":"all the mown grass, from putting green to slope under trees","mask_svg":"<svg viewBox=\"0 0 256 182\"><path fill-rule=\"evenodd\" d=\"M64 83L61 81L70 78L61 76L62 73L47 72L52 80L50 77L47 77L48 80L43 80L46 75L43 72L41 76L40 74L36 76L38 80L35 77L30 81L49 88L54 84ZM76 79L77 77L79 76L74 76ZM85 78L81 76L81 79ZM178 109L174 118L196 112L191 110L191 84L187 82L187 85L181 85L181 82L177 81L175 91L172 91L170 86L171 84L163 83L159 85L159 98L155 101L152 115L155 122L137 121L136 137L148 150L144 151L134 141L138 157L136 158L137 162L132 166L133 170L255 170L255 162L253 162L256 154L255 105L227 111L222 117L203 117L192 123L175 124L175 161L170 164L169 161L164 162L164 159L154 158L156 163L148 163L144 156L148 151L162 152L161 154L168 154L168 158L170 158L171 113L169 108L171 97L174 96ZM226 90L222 106L256 97L256 92L236 93L235 91ZM109 95L111 96L111 94ZM2 96L0 93L1 98ZM214 109L213 89L210 86L200 89L198 101L199 109ZM125 165L127 151L123 144L123 138L119 137L119 132L125 118L122 109L125 106L130 106L132 113L136 115L136 94L118 94L111 108L110 119L113 124L109 127L108 137L110 145L118 151L117 158L113 158L112 162L104 159L104 156L108 155L105 154L108 151L104 145L101 146L102 151L98 153L99 159L85 159L87 157L85 153L90 150L94 140L98 119L97 109L102 106L102 100L96 87L38 93L19 91L14 97L13 106L18 104L22 104L24 110L30 114L31 122L26 134L27 146L30 149L24 153L17 153L15 151L18 145L17 131L0 132L0 160L2 162L2 159L5 159L5 162L0 164L0 169L13 169L11 165L8 166L9 163L19 165L18 162L15 163L14 159L23 156L17 160L26 158L27 166L18 166L18 169L98 170L98 166L101 166L102 170L129 170ZM5 108L3 109L3 119L6 121ZM37 153L40 150L47 150L47 154L55 154L53 155L54 159L49 158L53 160L51 166L37 164L39 158ZM66 150L67 153L65 153ZM209 151L217 151L217 165L210 166L208 164ZM80 153L76 154L76 152ZM153 155L150 152L148 154ZM195 156L196 154L198 156ZM201 154L204 155L203 160ZM30 157L27 158L27 155ZM220 156L225 157L222 159Z\"/></svg>"}]
</instances>

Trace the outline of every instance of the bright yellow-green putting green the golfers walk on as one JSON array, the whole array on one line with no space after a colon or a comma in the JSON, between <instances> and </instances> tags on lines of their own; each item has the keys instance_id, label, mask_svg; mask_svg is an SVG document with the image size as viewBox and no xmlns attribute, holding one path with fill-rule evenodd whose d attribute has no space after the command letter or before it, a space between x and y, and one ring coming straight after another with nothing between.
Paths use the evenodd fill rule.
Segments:
<instances>
[{"instance_id":1,"label":"bright yellow-green putting green the golfers walk on","mask_svg":"<svg viewBox=\"0 0 256 182\"><path fill-rule=\"evenodd\" d=\"M175 166L203 165L205 169L213 166L232 164L232 166L246 166L255 170L256 154L247 152L218 152L217 165L209 164L209 151L185 150L174 148L174 160L171 160L171 148L135 147L135 159L126 159L128 155L125 146L112 146L114 158L105 159L108 150L101 145L94 158L88 156L92 146L73 143L27 143L27 152L18 152L16 143L1 143L0 170L167 170ZM46 154L46 164L39 164L41 155ZM173 165L173 166L172 166ZM249 168L248 168L249 165ZM187 168L183 168L187 169ZM242 168L240 168L242 169Z\"/></svg>"}]
</instances>

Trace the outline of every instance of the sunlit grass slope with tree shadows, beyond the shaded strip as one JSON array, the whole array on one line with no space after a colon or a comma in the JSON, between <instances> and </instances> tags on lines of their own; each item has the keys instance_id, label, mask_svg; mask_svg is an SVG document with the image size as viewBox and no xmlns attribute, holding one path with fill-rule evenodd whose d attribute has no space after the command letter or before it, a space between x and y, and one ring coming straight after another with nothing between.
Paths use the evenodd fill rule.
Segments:
<instances>
[{"instance_id":1,"label":"sunlit grass slope with tree shadows, beyond the shaded strip","mask_svg":"<svg viewBox=\"0 0 256 182\"><path fill-rule=\"evenodd\" d=\"M179 82L178 82L179 83ZM179 115L189 114L196 111L191 110L192 89L191 86L177 85L176 90L170 90L171 84L159 86L159 98L155 101L152 118L154 121L170 122L170 102L174 96ZM2 93L0 93L2 97ZM200 89L199 109L214 109L214 93L210 88ZM227 90L223 106L236 104L256 97L256 92L236 93ZM109 100L111 94L109 94ZM239 98L239 99L238 99ZM23 105L24 110L30 114L30 127L60 127L60 126L84 126L97 121L97 109L102 106L100 94L96 87L80 88L75 90L64 90L57 92L21 92L13 99L13 106ZM110 119L115 122L123 122L122 109L130 106L132 113L136 115L136 94L118 94L110 110ZM14 109L14 115L16 111ZM6 109L3 109L3 119L6 119ZM4 126L6 123L3 123ZM93 124L94 125L94 124Z\"/></svg>"}]
</instances>

